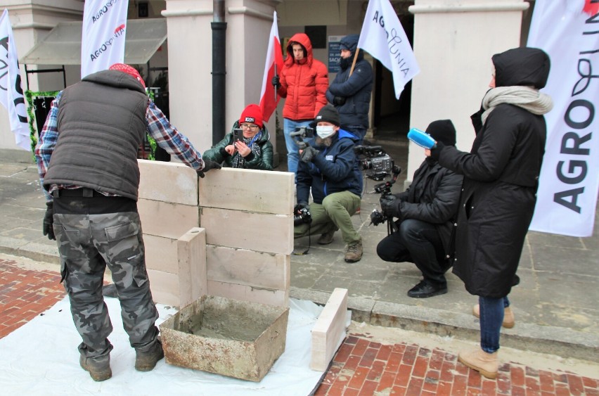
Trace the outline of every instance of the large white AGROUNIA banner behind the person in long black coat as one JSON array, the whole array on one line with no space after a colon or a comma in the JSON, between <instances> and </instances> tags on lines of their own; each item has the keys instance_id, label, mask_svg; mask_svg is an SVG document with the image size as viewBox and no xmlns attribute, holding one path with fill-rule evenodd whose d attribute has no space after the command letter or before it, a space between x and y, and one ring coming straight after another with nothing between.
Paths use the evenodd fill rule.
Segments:
<instances>
[{"instance_id":1,"label":"large white AGROUNIA banner behind the person in long black coat","mask_svg":"<svg viewBox=\"0 0 599 396\"><path fill-rule=\"evenodd\" d=\"M547 143L530 229L591 236L599 189L599 3L536 0L528 46L551 58Z\"/></svg>"}]
</instances>

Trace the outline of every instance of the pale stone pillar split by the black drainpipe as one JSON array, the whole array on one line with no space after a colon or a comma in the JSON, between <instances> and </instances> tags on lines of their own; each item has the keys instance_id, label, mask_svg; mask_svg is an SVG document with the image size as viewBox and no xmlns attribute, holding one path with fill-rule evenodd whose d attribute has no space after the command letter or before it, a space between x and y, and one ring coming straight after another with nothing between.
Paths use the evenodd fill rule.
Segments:
<instances>
[{"instance_id":1,"label":"pale stone pillar split by the black drainpipe","mask_svg":"<svg viewBox=\"0 0 599 396\"><path fill-rule=\"evenodd\" d=\"M264 61L279 0L227 0L226 130L259 103ZM212 142L212 0L167 0L170 120L203 152ZM267 127L275 141L275 117Z\"/></svg>"}]
</instances>

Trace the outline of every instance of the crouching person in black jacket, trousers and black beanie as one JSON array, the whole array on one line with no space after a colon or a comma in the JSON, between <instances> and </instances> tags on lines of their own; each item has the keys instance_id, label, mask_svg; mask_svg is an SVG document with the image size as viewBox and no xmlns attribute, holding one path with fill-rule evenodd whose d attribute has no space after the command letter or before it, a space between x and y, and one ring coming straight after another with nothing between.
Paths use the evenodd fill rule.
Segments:
<instances>
[{"instance_id":1,"label":"crouching person in black jacket, trousers and black beanie","mask_svg":"<svg viewBox=\"0 0 599 396\"><path fill-rule=\"evenodd\" d=\"M450 120L431 122L426 132L446 146L456 144L456 129ZM447 293L445 272L451 267L451 233L462 179L427 157L406 191L380 198L389 221L391 217L398 220L397 231L378 243L378 256L389 262L413 262L424 277L408 291L408 297Z\"/></svg>"}]
</instances>

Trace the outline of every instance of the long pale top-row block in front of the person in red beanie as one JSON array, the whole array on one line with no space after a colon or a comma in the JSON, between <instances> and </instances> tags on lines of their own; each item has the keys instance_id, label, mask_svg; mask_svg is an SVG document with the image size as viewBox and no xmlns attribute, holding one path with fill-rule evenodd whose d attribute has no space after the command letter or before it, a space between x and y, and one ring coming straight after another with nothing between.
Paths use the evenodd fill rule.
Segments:
<instances>
[{"instance_id":1,"label":"long pale top-row block in front of the person in red beanie","mask_svg":"<svg viewBox=\"0 0 599 396\"><path fill-rule=\"evenodd\" d=\"M290 215L295 204L291 172L223 168L200 179L200 206Z\"/></svg>"}]
</instances>

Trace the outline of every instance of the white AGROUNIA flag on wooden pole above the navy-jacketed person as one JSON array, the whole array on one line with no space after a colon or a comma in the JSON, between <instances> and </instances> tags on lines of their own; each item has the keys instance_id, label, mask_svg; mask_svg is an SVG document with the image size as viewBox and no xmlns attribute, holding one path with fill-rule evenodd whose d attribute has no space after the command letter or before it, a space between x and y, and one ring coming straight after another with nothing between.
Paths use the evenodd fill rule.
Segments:
<instances>
[{"instance_id":1,"label":"white AGROUNIA flag on wooden pole above the navy-jacketed person","mask_svg":"<svg viewBox=\"0 0 599 396\"><path fill-rule=\"evenodd\" d=\"M416 57L389 0L370 0L358 47L368 51L393 73L395 98L420 72Z\"/></svg>"}]
</instances>

